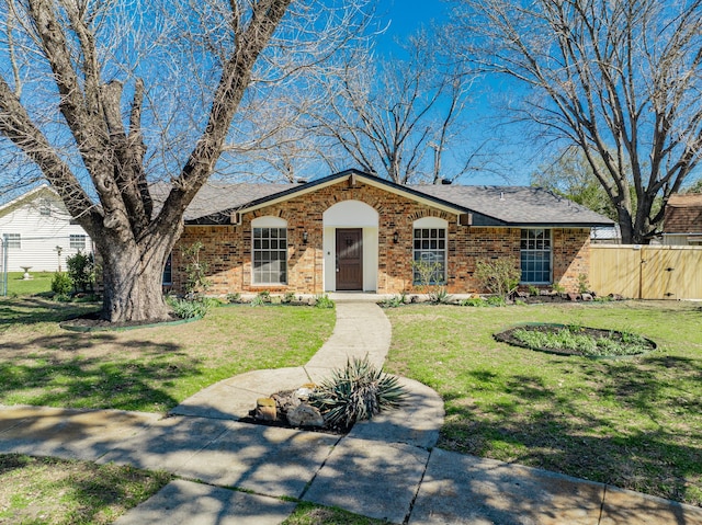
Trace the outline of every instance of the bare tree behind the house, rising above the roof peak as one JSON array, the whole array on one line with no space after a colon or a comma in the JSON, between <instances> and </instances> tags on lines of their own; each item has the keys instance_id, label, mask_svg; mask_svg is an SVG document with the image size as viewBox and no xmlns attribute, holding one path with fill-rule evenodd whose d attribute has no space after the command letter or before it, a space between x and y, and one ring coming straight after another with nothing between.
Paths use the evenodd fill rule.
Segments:
<instances>
[{"instance_id":1,"label":"bare tree behind the house, rising above the roof peak","mask_svg":"<svg viewBox=\"0 0 702 525\"><path fill-rule=\"evenodd\" d=\"M441 52L437 35L420 32L401 58L359 46L321 79L310 132L332 169L351 161L408 184L454 180L479 164L482 148L460 140L471 79ZM442 166L449 155L451 167Z\"/></svg>"}]
</instances>

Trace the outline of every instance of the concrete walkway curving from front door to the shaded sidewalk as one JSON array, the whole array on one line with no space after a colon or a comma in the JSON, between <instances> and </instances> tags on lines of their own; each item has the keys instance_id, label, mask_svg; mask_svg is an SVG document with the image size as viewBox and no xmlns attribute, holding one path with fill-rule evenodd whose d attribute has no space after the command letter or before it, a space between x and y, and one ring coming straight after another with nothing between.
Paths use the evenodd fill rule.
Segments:
<instances>
[{"instance_id":1,"label":"concrete walkway curving from front door to the shaded sidewalk","mask_svg":"<svg viewBox=\"0 0 702 525\"><path fill-rule=\"evenodd\" d=\"M337 327L305 366L226 379L165 419L0 407L0 453L114 461L179 476L118 525L273 525L295 509L290 499L396 524L702 525L699 507L435 448L443 403L409 379L403 379L407 408L358 423L348 436L239 422L258 397L318 380L348 356L383 363L389 322L373 303L351 298L335 297Z\"/></svg>"}]
</instances>

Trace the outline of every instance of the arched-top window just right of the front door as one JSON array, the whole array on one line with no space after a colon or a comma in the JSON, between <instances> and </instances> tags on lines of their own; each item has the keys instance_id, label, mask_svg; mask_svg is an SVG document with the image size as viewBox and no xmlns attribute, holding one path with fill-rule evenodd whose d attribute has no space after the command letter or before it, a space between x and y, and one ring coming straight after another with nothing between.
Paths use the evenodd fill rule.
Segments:
<instances>
[{"instance_id":1,"label":"arched-top window just right of the front door","mask_svg":"<svg viewBox=\"0 0 702 525\"><path fill-rule=\"evenodd\" d=\"M448 222L437 217L415 221L414 284L446 284Z\"/></svg>"}]
</instances>

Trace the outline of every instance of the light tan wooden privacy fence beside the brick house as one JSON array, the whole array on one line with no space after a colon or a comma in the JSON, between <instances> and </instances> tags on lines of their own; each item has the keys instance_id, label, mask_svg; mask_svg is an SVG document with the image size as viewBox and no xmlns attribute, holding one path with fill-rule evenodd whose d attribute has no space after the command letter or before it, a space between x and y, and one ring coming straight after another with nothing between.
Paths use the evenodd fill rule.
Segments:
<instances>
[{"instance_id":1,"label":"light tan wooden privacy fence beside the brick house","mask_svg":"<svg viewBox=\"0 0 702 525\"><path fill-rule=\"evenodd\" d=\"M592 244L588 277L599 296L702 299L702 247Z\"/></svg>"}]
</instances>

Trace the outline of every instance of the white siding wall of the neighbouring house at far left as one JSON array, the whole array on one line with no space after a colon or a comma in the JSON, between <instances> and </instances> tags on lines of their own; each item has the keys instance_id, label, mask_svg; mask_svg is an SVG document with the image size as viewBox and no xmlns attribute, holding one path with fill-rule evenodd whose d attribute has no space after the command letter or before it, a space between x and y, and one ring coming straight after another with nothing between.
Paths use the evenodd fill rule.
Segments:
<instances>
[{"instance_id":1,"label":"white siding wall of the neighbouring house at far left","mask_svg":"<svg viewBox=\"0 0 702 525\"><path fill-rule=\"evenodd\" d=\"M50 214L42 215L48 207ZM92 252L92 244L86 231L70 224L70 216L60 199L50 193L38 195L34 201L20 205L0 217L0 240L3 233L20 233L21 248L8 249L8 271L21 272L20 266L32 266L30 272L54 272L58 270L59 258L56 247L61 247L60 265L66 271L66 258L76 254L70 248L70 236L86 236L86 250ZM0 270L4 261L5 247L0 248Z\"/></svg>"}]
</instances>

